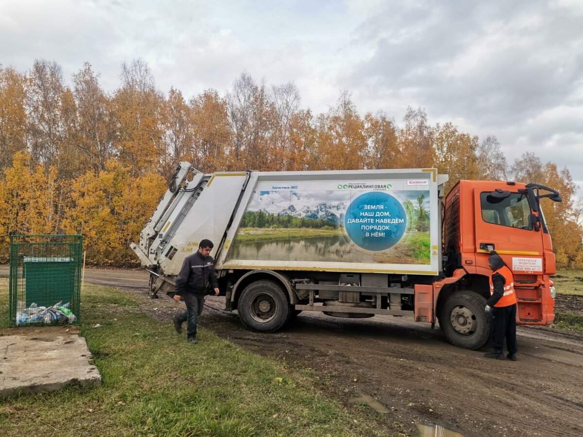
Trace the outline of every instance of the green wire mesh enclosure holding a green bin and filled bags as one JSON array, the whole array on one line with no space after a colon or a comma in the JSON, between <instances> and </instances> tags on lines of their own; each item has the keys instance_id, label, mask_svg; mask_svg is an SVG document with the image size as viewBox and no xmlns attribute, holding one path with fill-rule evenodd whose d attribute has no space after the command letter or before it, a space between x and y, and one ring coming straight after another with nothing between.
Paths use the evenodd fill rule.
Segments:
<instances>
[{"instance_id":1,"label":"green wire mesh enclosure holding a green bin and filled bags","mask_svg":"<svg viewBox=\"0 0 583 437\"><path fill-rule=\"evenodd\" d=\"M83 237L10 236L10 326L78 325Z\"/></svg>"}]
</instances>

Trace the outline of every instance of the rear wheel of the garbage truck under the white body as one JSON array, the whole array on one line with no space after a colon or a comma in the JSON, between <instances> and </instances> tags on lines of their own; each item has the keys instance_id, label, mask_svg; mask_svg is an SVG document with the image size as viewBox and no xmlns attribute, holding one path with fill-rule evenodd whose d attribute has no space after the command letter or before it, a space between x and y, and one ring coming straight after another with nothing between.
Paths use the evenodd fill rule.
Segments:
<instances>
[{"instance_id":1,"label":"rear wheel of the garbage truck under the white body","mask_svg":"<svg viewBox=\"0 0 583 437\"><path fill-rule=\"evenodd\" d=\"M275 332L290 318L291 308L282 288L261 280L243 290L238 305L243 325L260 332Z\"/></svg>"}]
</instances>

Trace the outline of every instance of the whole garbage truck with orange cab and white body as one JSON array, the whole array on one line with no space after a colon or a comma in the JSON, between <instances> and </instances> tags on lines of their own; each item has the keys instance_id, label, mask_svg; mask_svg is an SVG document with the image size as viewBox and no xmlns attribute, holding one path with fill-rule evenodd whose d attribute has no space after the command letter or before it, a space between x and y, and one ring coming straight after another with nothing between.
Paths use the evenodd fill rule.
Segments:
<instances>
[{"instance_id":1,"label":"whole garbage truck with orange cab and white body","mask_svg":"<svg viewBox=\"0 0 583 437\"><path fill-rule=\"evenodd\" d=\"M514 274L517 323L553 323L555 257L540 200L559 193L461 180L444 199L447 181L436 168L205 174L181 162L131 248L157 298L199 242L213 241L225 309L248 329L275 332L302 311L411 316L469 349L490 336L495 250Z\"/></svg>"}]
</instances>

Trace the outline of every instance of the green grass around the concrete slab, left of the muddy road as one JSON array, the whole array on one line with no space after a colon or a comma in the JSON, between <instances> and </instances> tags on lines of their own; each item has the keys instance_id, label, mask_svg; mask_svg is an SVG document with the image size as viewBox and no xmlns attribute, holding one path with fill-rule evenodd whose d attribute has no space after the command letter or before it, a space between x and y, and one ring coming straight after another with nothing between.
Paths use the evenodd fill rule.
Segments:
<instances>
[{"instance_id":1,"label":"green grass around the concrete slab, left of the muddy road","mask_svg":"<svg viewBox=\"0 0 583 437\"><path fill-rule=\"evenodd\" d=\"M81 334L102 385L5 399L2 435L397 434L392 422L326 397L308 371L247 353L206 330L189 345L137 305L131 295L86 286ZM0 313L0 327L8 326L3 278Z\"/></svg>"}]
</instances>

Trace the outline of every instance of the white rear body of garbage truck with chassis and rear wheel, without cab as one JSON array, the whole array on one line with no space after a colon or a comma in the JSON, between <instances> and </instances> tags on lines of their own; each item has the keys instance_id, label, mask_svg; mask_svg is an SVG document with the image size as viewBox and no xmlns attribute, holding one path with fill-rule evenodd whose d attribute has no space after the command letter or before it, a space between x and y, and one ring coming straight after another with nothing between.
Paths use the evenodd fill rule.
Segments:
<instances>
[{"instance_id":1,"label":"white rear body of garbage truck with chassis and rear wheel, without cab","mask_svg":"<svg viewBox=\"0 0 583 437\"><path fill-rule=\"evenodd\" d=\"M417 284L441 275L447 179L433 168L202 174L180 163L131 248L157 298L210 239L226 309L261 332L301 311L434 324L433 289Z\"/></svg>"}]
</instances>

